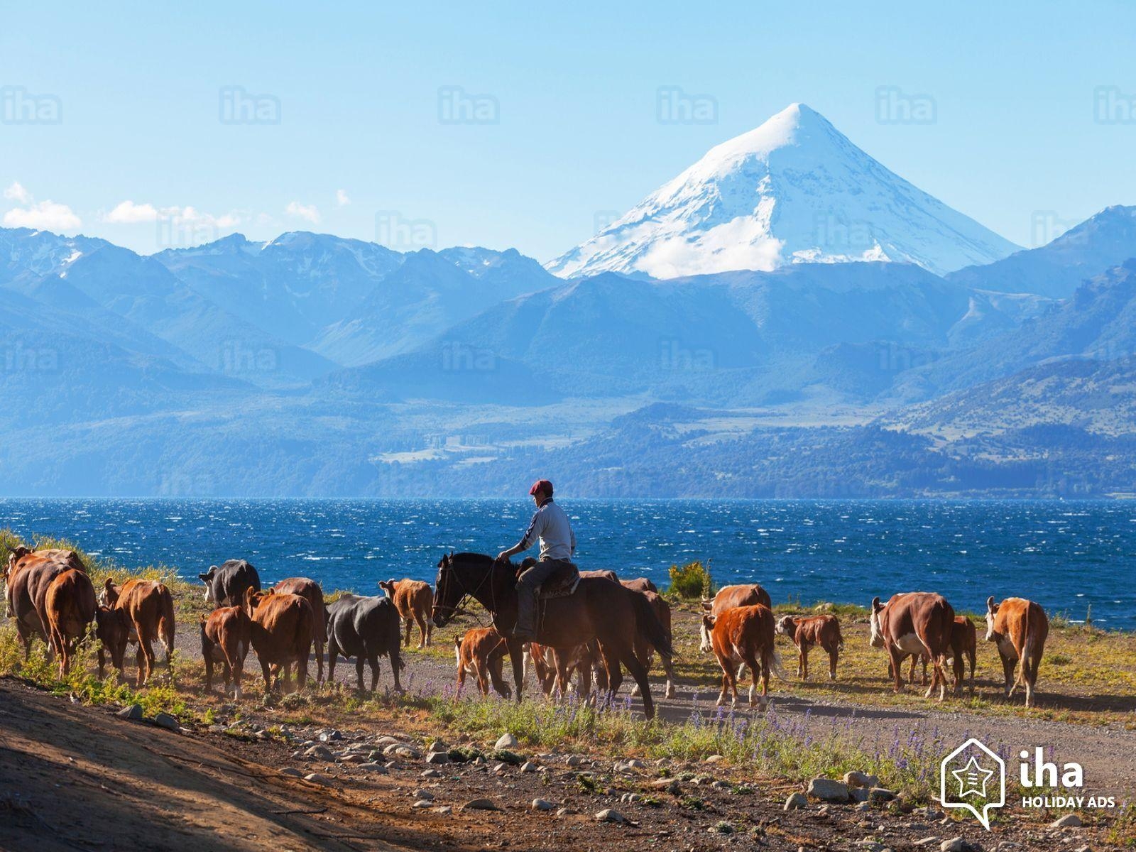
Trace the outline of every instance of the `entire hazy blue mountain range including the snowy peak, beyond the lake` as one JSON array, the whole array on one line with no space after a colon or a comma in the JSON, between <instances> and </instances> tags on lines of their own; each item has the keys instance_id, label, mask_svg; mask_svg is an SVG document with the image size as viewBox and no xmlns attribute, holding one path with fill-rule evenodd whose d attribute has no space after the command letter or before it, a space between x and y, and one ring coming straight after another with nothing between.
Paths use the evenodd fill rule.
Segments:
<instances>
[{"instance_id":1,"label":"entire hazy blue mountain range including the snowy peak, beyond the lake","mask_svg":"<svg viewBox=\"0 0 1136 852\"><path fill-rule=\"evenodd\" d=\"M803 105L546 267L0 228L0 493L1136 491L1136 208L1016 249Z\"/></svg>"}]
</instances>

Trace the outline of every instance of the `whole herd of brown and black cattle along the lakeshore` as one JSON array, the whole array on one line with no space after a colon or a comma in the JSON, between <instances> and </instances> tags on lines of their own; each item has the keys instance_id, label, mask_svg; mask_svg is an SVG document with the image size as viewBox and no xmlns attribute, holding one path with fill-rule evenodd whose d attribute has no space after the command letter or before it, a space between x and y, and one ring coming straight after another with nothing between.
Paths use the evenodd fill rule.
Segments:
<instances>
[{"instance_id":1,"label":"whole herd of brown and black cattle along the lakeshore","mask_svg":"<svg viewBox=\"0 0 1136 852\"><path fill-rule=\"evenodd\" d=\"M670 638L670 607L650 579L619 579L612 571L584 574L609 577L645 595ZM240 698L244 660L250 650L260 661L266 690L270 690L276 679L282 679L287 691L293 669L296 688L302 688L308 679L312 649L318 668L317 683L323 683L325 644L329 682L337 657L354 658L358 688L364 690L364 668L369 666L370 690L374 691L379 675L378 658L386 657L398 691L401 690L399 674L404 667L400 649L403 641L410 644L412 627L418 627L419 648L432 641L433 592L429 584L420 580L384 580L379 583L383 595L344 594L326 604L319 584L304 577L283 579L262 591L256 568L245 560L228 560L199 576L206 585L206 601L214 607L199 624L206 691L211 691L215 668L220 666L225 690L232 684L234 695ZM99 642L100 678L105 674L106 654L110 655L111 665L122 677L127 645L135 644L136 683L142 686L153 670L153 643L161 642L167 660L174 650L174 601L160 582L128 579L119 585L108 578L97 594L74 551L17 548L5 568L5 586L8 616L16 619L25 659L31 652L32 640L40 637L58 657L60 678L68 673L75 648L92 623ZM737 701L737 680L749 668L752 673L750 703L765 707L770 673L785 678L775 646L777 635L786 636L797 649L797 677L808 679L809 651L819 646L828 654L829 678L836 678L844 641L835 616L783 616L778 619L769 594L758 584L726 586L702 605L701 648L715 654L722 671L719 704L725 703L728 695ZM945 698L947 666L952 668L954 692L961 692L967 661L970 692L974 693L975 625L964 616L955 616L942 595L910 592L896 594L886 603L875 599L870 632L871 645L887 652L888 674L896 692L903 690L901 665L910 657L909 680L914 683L916 666L921 661L928 698L936 687L939 701ZM1012 695L1017 686L1024 686L1027 707L1034 703L1037 667L1047 633L1049 620L1038 604L1020 598L1008 598L1001 603L988 599L986 638L997 644L1006 695ZM456 636L459 690L466 676L473 675L483 695L488 694L492 684L501 695L511 696L502 678L506 653L503 637L492 627L475 627ZM636 646L635 655L650 668L654 649L646 644ZM669 658L660 657L667 677L666 694L670 698L674 669ZM546 694L556 690L567 693L575 673L579 673L579 680L586 684L591 683L594 673L598 686L607 687L602 654L592 645L550 649L534 642L527 648L525 659ZM929 685L928 666L932 669ZM1019 669L1017 677L1016 669ZM761 695L755 700L759 684Z\"/></svg>"}]
</instances>

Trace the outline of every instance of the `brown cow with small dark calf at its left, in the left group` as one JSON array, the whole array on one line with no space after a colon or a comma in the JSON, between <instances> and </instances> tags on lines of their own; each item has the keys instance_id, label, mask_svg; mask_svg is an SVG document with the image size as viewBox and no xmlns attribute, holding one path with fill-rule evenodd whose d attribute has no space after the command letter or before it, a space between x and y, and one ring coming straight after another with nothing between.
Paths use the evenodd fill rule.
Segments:
<instances>
[{"instance_id":1,"label":"brown cow with small dark calf at its left, in the left group","mask_svg":"<svg viewBox=\"0 0 1136 852\"><path fill-rule=\"evenodd\" d=\"M139 667L139 686L143 686L153 673L153 643L157 640L160 640L166 649L166 668L168 669L174 653L176 623L174 619L174 596L165 584L156 579L128 579L119 586L111 577L107 577L106 588L100 596L101 603L112 610L122 610L130 619L130 629L125 637L119 629L103 630L110 641L117 643L108 645L107 650L110 652L111 661L118 668L119 677L123 673L123 658L126 653L127 642L136 642L139 645L135 657Z\"/></svg>"}]
</instances>

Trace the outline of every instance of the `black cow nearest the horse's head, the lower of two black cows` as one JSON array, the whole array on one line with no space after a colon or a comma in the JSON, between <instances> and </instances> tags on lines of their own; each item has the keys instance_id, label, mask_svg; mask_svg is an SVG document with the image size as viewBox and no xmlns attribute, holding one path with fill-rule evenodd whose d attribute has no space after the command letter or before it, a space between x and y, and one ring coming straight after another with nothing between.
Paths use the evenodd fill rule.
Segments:
<instances>
[{"instance_id":1,"label":"black cow nearest the horse's head, the lower of two black cows","mask_svg":"<svg viewBox=\"0 0 1136 852\"><path fill-rule=\"evenodd\" d=\"M327 682L335 679L335 658L356 658L356 675L362 692L362 667L370 663L370 691L378 683L378 658L391 659L394 688L402 692L399 670L406 666L400 655L402 625L394 602L384 595L364 598L345 594L327 608Z\"/></svg>"}]
</instances>

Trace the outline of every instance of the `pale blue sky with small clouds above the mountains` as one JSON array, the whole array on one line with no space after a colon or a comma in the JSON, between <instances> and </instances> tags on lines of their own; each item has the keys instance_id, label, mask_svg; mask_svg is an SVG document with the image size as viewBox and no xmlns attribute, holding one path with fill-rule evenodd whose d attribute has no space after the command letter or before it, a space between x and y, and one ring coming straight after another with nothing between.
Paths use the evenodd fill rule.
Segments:
<instances>
[{"instance_id":1,"label":"pale blue sky with small clouds above the mountains","mask_svg":"<svg viewBox=\"0 0 1136 852\"><path fill-rule=\"evenodd\" d=\"M1136 203L1125 2L36 6L2 12L0 218L143 252L378 214L548 260L793 101L1019 244Z\"/></svg>"}]
</instances>

